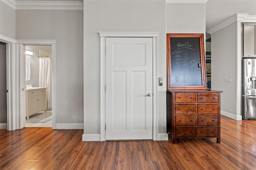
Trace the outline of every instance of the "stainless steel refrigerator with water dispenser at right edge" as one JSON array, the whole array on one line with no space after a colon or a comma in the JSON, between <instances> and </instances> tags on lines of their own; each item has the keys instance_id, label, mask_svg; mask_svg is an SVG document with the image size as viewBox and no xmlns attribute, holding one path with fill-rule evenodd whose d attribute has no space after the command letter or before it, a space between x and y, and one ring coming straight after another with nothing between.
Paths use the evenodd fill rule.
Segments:
<instances>
[{"instance_id":1,"label":"stainless steel refrigerator with water dispenser at right edge","mask_svg":"<svg viewBox=\"0 0 256 170\"><path fill-rule=\"evenodd\" d=\"M242 118L256 120L256 58L242 59Z\"/></svg>"}]
</instances>

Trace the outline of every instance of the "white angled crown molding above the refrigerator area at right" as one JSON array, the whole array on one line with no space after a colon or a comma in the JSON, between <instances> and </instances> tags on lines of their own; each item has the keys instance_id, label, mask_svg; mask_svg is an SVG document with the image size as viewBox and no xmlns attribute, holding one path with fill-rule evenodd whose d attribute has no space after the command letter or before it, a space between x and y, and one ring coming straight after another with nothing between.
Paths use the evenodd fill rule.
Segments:
<instances>
[{"instance_id":1,"label":"white angled crown molding above the refrigerator area at right","mask_svg":"<svg viewBox=\"0 0 256 170\"><path fill-rule=\"evenodd\" d=\"M207 33L213 34L214 32L232 24L233 22L241 21L241 22L256 22L256 16L249 16L249 14L235 14L234 16L228 18L227 20L221 22L217 26L211 28L210 30L206 30Z\"/></svg>"}]
</instances>

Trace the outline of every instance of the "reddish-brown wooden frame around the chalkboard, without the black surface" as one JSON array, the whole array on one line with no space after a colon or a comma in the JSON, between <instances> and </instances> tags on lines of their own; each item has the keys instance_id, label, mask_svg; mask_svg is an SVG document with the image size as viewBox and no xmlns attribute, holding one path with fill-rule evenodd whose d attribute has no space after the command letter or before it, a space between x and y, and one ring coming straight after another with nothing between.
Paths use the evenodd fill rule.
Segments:
<instances>
[{"instance_id":1,"label":"reddish-brown wooden frame around the chalkboard, without the black surface","mask_svg":"<svg viewBox=\"0 0 256 170\"><path fill-rule=\"evenodd\" d=\"M198 48L200 48L200 64L201 64L201 79L202 84L200 85L172 85L172 63L171 63L171 38L199 38ZM173 39L174 40L174 39ZM176 39L178 40L178 39ZM167 89L174 90L174 89L207 89L206 87L206 67L205 67L205 55L204 55L204 34L166 34L166 45L167 45ZM200 46L200 47L199 47ZM197 49L198 51L199 49ZM196 54L195 54L196 55ZM194 56L192 56L194 57ZM184 61L183 61L184 62ZM199 63L198 63L199 64ZM184 68L186 71L186 68ZM198 76L195 77L200 79Z\"/></svg>"}]
</instances>

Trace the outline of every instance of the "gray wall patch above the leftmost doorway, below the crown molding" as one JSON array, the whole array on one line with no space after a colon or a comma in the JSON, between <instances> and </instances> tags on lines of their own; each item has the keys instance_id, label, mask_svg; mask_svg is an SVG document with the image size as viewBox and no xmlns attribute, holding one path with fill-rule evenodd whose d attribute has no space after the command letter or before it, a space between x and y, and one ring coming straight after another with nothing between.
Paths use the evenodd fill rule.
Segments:
<instances>
[{"instance_id":1,"label":"gray wall patch above the leftmost doorway, below the crown molding","mask_svg":"<svg viewBox=\"0 0 256 170\"><path fill-rule=\"evenodd\" d=\"M15 10L0 1L0 34L15 39Z\"/></svg>"}]
</instances>

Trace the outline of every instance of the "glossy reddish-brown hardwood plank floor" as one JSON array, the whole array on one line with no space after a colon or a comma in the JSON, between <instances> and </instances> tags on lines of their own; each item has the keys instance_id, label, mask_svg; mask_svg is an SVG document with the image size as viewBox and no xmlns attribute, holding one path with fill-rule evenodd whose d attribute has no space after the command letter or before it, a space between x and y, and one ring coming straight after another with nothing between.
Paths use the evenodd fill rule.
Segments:
<instances>
[{"instance_id":1,"label":"glossy reddish-brown hardwood plank floor","mask_svg":"<svg viewBox=\"0 0 256 170\"><path fill-rule=\"evenodd\" d=\"M0 130L1 170L254 170L256 121L221 116L210 139L82 142L83 130Z\"/></svg>"}]
</instances>

